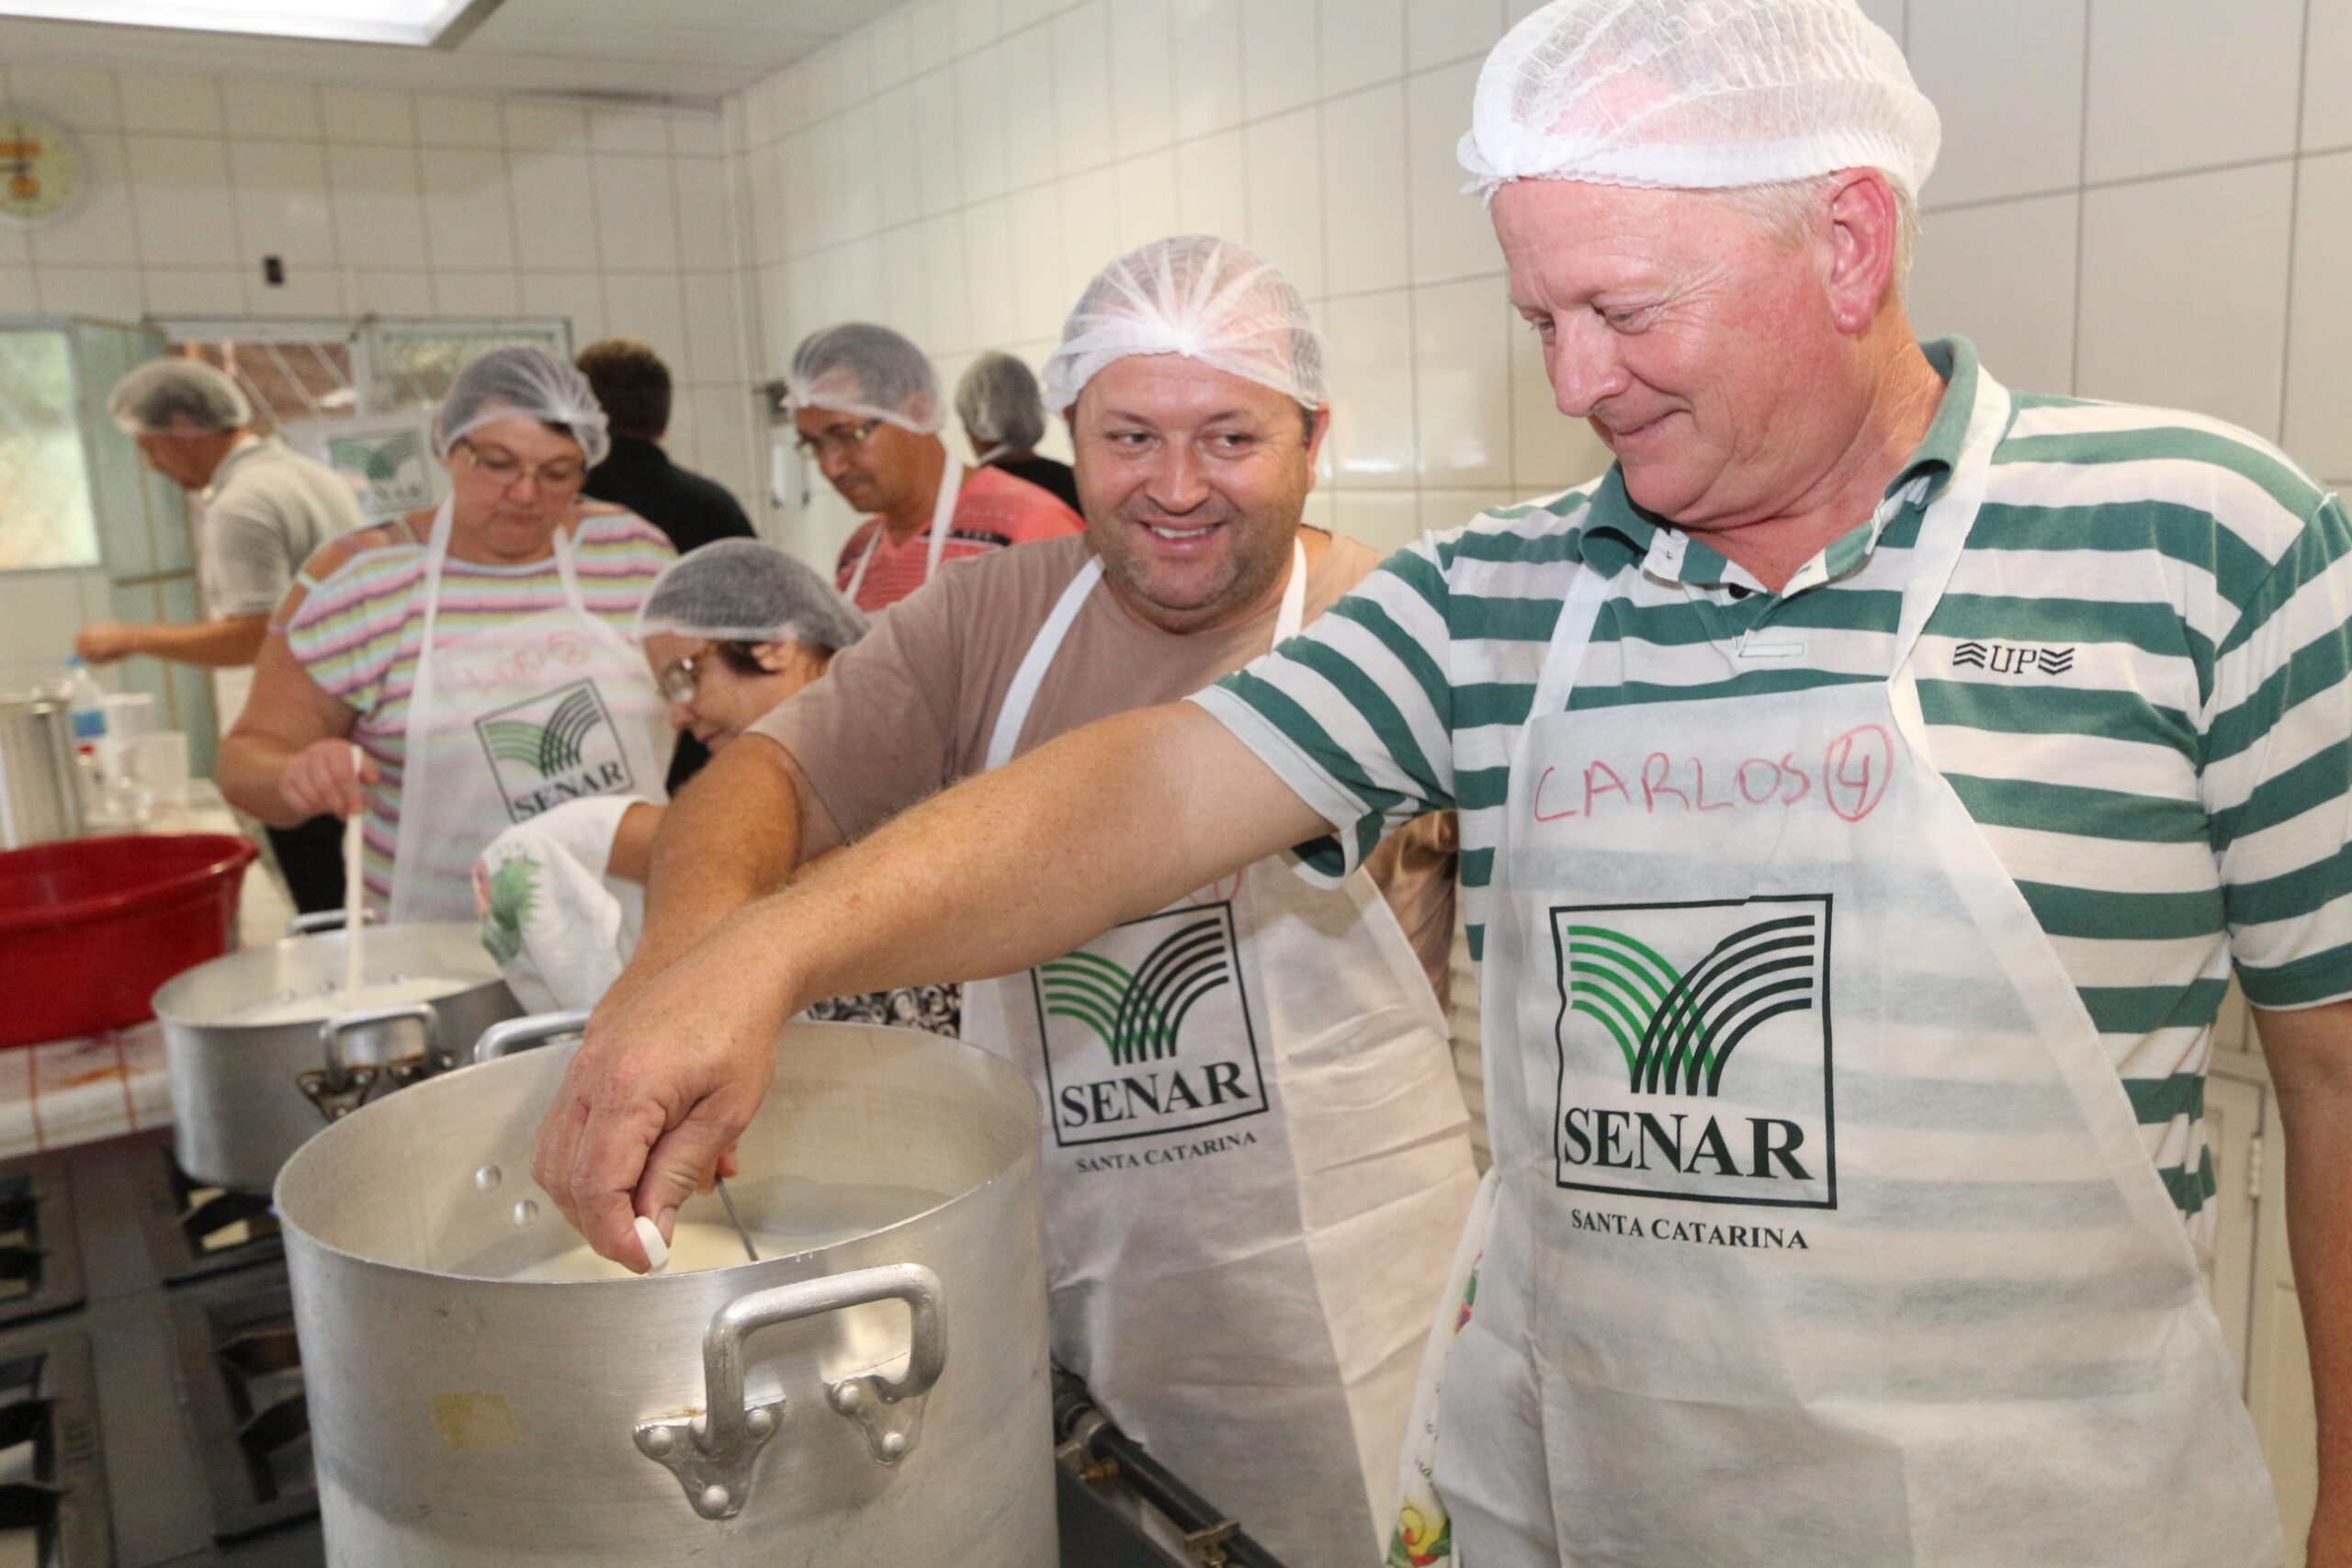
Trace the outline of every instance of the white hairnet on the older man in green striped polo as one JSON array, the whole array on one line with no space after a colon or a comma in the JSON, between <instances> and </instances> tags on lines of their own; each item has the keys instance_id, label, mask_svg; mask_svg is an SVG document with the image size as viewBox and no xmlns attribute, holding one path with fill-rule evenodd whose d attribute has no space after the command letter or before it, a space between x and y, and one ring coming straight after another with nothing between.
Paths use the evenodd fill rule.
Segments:
<instances>
[{"instance_id":1,"label":"white hairnet on the older man in green striped polo","mask_svg":"<svg viewBox=\"0 0 2352 1568\"><path fill-rule=\"evenodd\" d=\"M1461 160L1489 195L1879 169L1917 197L1940 141L1896 40L1853 0L1552 0L1486 56Z\"/></svg>"}]
</instances>

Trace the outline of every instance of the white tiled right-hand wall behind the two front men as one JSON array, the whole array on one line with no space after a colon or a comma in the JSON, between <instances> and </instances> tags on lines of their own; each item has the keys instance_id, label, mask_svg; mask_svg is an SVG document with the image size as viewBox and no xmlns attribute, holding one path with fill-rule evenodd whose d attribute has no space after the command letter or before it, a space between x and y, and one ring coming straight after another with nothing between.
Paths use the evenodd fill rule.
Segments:
<instances>
[{"instance_id":1,"label":"white tiled right-hand wall behind the two front men","mask_svg":"<svg viewBox=\"0 0 2352 1568\"><path fill-rule=\"evenodd\" d=\"M1037 360L1084 280L1242 237L1331 336L1317 515L1381 545L1606 454L1552 409L1454 141L1534 0L915 0L729 101L755 374L889 322ZM2352 0L1865 0L1945 118L1912 284L2018 388L2190 404L2352 475ZM1056 437L1058 440L1058 437ZM823 482L786 541L849 527Z\"/></svg>"}]
</instances>

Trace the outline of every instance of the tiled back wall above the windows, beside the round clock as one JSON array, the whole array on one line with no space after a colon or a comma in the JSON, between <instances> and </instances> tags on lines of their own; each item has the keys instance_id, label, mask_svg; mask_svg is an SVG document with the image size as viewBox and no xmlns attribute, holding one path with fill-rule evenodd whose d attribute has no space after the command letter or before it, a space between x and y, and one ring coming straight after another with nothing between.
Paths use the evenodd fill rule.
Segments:
<instances>
[{"instance_id":1,"label":"tiled back wall above the windows, beside the round clock","mask_svg":"<svg viewBox=\"0 0 2352 1568\"><path fill-rule=\"evenodd\" d=\"M89 165L64 221L0 230L0 315L564 315L661 350L670 449L760 489L715 113L54 63L0 68L0 101Z\"/></svg>"}]
</instances>

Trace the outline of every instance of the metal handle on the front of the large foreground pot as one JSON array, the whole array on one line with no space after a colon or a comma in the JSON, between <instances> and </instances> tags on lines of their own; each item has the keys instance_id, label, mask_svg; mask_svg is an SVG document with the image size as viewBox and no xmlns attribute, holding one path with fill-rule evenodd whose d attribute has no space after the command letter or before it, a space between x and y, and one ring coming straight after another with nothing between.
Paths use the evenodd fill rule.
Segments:
<instances>
[{"instance_id":1,"label":"metal handle on the front of the large foreground pot","mask_svg":"<svg viewBox=\"0 0 2352 1568\"><path fill-rule=\"evenodd\" d=\"M734 1519L750 1495L753 1460L783 1422L783 1399L743 1401L743 1340L760 1328L821 1312L901 1300L908 1312L903 1378L863 1373L826 1385L826 1403L866 1429L866 1446L896 1465L922 1436L922 1399L948 1366L948 1309L938 1274L920 1262L894 1262L854 1274L830 1274L797 1286L739 1295L710 1314L703 1333L703 1413L637 1422L637 1450L677 1476L703 1519Z\"/></svg>"}]
</instances>

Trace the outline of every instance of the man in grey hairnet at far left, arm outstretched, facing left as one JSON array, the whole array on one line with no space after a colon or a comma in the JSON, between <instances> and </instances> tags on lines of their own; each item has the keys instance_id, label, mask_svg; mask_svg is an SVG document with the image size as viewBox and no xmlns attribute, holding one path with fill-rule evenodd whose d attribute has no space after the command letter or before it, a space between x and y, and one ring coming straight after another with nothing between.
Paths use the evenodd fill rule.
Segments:
<instances>
[{"instance_id":1,"label":"man in grey hairnet at far left, arm outstretched, facing left","mask_svg":"<svg viewBox=\"0 0 2352 1568\"><path fill-rule=\"evenodd\" d=\"M270 611L329 538L360 527L360 503L332 468L252 430L235 381L202 360L151 360L115 383L108 407L148 468L195 496L198 625L85 625L73 651L94 665L146 654L212 670L221 731L238 722ZM301 912L343 903L341 825L332 816L268 827L270 853Z\"/></svg>"}]
</instances>

